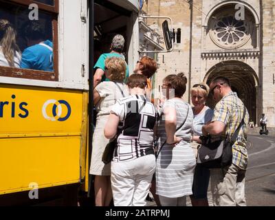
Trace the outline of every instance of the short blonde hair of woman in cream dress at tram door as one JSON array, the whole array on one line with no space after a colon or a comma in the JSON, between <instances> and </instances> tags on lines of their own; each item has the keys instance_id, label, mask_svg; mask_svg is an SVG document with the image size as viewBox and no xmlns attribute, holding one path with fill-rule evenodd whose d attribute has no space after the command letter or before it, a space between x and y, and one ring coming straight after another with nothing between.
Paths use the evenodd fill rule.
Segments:
<instances>
[{"instance_id":1,"label":"short blonde hair of woman in cream dress at tram door","mask_svg":"<svg viewBox=\"0 0 275 220\"><path fill-rule=\"evenodd\" d=\"M115 56L107 58L105 69L108 69L111 81L123 81L126 76L126 63L122 58Z\"/></svg>"}]
</instances>

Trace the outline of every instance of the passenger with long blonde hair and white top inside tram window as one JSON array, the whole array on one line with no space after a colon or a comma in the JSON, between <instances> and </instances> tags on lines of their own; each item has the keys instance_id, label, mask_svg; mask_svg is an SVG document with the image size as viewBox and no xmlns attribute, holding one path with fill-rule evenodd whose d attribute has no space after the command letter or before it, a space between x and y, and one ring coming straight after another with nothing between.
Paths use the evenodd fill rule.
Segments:
<instances>
[{"instance_id":1,"label":"passenger with long blonde hair and white top inside tram window","mask_svg":"<svg viewBox=\"0 0 275 220\"><path fill-rule=\"evenodd\" d=\"M10 22L0 19L0 66L20 67L21 52L16 37L17 32Z\"/></svg>"}]
</instances>

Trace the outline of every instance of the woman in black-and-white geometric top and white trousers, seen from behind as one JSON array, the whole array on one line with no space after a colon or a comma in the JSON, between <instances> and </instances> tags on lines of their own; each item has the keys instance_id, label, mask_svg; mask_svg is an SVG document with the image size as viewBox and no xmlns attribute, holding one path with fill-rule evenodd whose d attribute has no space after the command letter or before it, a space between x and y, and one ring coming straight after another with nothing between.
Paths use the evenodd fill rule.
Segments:
<instances>
[{"instance_id":1,"label":"woman in black-and-white geometric top and white trousers, seen from behind","mask_svg":"<svg viewBox=\"0 0 275 220\"><path fill-rule=\"evenodd\" d=\"M153 129L155 107L146 101L146 77L133 74L127 85L131 96L120 98L111 109L104 129L111 139L118 132L118 143L111 162L111 187L115 206L145 206L153 173ZM118 124L122 129L118 131Z\"/></svg>"}]
</instances>

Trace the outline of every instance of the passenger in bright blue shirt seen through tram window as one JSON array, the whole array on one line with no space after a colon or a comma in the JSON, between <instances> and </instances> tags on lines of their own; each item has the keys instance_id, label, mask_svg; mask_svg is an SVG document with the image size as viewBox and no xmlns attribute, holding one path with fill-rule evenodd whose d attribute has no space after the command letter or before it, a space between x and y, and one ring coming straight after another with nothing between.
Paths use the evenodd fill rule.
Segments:
<instances>
[{"instance_id":1,"label":"passenger in bright blue shirt seen through tram window","mask_svg":"<svg viewBox=\"0 0 275 220\"><path fill-rule=\"evenodd\" d=\"M23 51L21 68L54 71L53 43L45 39L44 29L38 21L25 25L24 36L28 47Z\"/></svg>"}]
</instances>

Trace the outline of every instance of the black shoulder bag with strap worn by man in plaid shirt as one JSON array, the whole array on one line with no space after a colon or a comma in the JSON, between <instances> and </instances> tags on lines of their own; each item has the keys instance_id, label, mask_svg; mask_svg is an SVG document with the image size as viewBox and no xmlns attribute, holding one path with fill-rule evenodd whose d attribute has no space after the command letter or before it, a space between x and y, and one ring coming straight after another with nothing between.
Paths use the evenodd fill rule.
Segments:
<instances>
[{"instance_id":1,"label":"black shoulder bag with strap worn by man in plaid shirt","mask_svg":"<svg viewBox=\"0 0 275 220\"><path fill-rule=\"evenodd\" d=\"M206 168L223 168L232 164L232 146L236 142L241 126L245 124L246 109L244 107L243 119L238 128L232 135L231 141L217 140L211 142L211 138L206 137L206 140L198 149L197 164L201 164Z\"/></svg>"}]
</instances>

